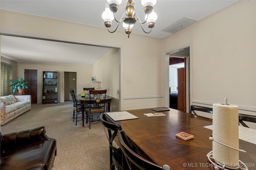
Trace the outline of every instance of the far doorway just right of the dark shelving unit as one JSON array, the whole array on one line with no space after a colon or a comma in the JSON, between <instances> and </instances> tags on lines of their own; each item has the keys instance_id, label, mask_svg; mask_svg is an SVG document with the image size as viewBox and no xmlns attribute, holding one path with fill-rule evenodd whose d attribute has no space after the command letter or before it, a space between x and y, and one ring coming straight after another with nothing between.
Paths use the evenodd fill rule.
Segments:
<instances>
[{"instance_id":1,"label":"far doorway just right of the dark shelving unit","mask_svg":"<svg viewBox=\"0 0 256 170\"><path fill-rule=\"evenodd\" d=\"M64 72L64 101L72 100L69 89L76 93L76 72Z\"/></svg>"}]
</instances>

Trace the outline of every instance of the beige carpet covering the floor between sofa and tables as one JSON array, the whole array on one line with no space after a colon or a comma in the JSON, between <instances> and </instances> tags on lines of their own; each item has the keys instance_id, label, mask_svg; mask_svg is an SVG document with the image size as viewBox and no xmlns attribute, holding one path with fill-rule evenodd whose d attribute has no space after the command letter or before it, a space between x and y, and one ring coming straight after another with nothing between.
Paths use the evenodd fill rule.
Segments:
<instances>
[{"instance_id":1,"label":"beige carpet covering the floor between sofa and tables","mask_svg":"<svg viewBox=\"0 0 256 170\"><path fill-rule=\"evenodd\" d=\"M57 141L52 170L108 170L108 139L103 125L73 122L72 101L59 104L32 104L30 111L1 126L1 133L46 127L46 135Z\"/></svg>"}]
</instances>

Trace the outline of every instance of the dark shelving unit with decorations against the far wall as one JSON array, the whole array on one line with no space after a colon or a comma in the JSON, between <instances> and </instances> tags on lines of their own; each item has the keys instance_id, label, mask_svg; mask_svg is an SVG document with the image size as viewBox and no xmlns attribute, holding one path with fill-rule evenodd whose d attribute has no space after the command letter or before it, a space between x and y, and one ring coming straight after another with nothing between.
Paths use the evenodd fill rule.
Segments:
<instances>
[{"instance_id":1,"label":"dark shelving unit with decorations against the far wall","mask_svg":"<svg viewBox=\"0 0 256 170\"><path fill-rule=\"evenodd\" d=\"M58 103L58 72L43 71L42 104Z\"/></svg>"}]
</instances>

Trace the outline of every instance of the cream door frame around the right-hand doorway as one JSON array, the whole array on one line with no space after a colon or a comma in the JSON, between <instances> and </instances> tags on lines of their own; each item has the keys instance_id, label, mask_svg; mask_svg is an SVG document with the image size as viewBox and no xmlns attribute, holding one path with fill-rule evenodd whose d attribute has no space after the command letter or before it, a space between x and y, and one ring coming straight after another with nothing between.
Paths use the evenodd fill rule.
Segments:
<instances>
[{"instance_id":1,"label":"cream door frame around the right-hand doorway","mask_svg":"<svg viewBox=\"0 0 256 170\"><path fill-rule=\"evenodd\" d=\"M189 112L192 101L192 43L176 47L164 53L164 98L165 106L169 107L169 54L174 51L190 48L190 55L186 57L186 112Z\"/></svg>"}]
</instances>

